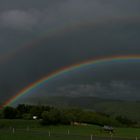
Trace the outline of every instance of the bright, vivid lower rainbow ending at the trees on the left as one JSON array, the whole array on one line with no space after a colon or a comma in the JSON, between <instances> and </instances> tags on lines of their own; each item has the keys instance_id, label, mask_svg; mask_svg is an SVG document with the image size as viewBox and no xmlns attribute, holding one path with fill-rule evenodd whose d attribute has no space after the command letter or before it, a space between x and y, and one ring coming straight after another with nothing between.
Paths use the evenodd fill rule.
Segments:
<instances>
[{"instance_id":1,"label":"bright, vivid lower rainbow ending at the trees on the left","mask_svg":"<svg viewBox=\"0 0 140 140\"><path fill-rule=\"evenodd\" d=\"M64 74L68 74L71 71L82 69L84 67L90 66L90 65L96 65L96 64L104 64L108 62L135 62L137 60L140 60L140 55L122 55L122 56L109 56L109 57L100 57L100 58L94 58L90 59L84 62L80 62L78 64L73 64L67 67L63 67L59 70L56 70L47 76L29 84L27 87L23 88L21 91L19 91L17 94L15 94L13 97L11 97L9 100L7 100L2 107L4 106L10 106L13 103L15 103L17 100L22 98L25 94L32 94L36 88L40 87L44 83L48 83L50 80L53 80L54 78L58 76L62 76Z\"/></svg>"}]
</instances>

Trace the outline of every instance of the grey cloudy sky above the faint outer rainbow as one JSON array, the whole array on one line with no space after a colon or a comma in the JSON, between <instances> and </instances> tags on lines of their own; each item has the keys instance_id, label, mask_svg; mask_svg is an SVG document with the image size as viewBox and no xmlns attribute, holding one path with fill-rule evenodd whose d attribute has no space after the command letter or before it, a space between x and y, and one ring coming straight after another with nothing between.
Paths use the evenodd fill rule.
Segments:
<instances>
[{"instance_id":1,"label":"grey cloudy sky above the faint outer rainbow","mask_svg":"<svg viewBox=\"0 0 140 140\"><path fill-rule=\"evenodd\" d=\"M3 0L0 2L1 54L19 48L48 30L77 23L104 23L116 18L137 20L139 5L136 0ZM17 39L12 39L13 36Z\"/></svg>"}]
</instances>

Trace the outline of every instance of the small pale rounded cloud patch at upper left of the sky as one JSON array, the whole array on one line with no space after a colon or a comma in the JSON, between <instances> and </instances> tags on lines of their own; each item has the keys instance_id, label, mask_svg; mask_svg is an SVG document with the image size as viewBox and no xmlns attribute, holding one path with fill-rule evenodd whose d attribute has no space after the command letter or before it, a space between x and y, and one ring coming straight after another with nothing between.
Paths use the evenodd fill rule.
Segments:
<instances>
[{"instance_id":1,"label":"small pale rounded cloud patch at upper left of the sky","mask_svg":"<svg viewBox=\"0 0 140 140\"><path fill-rule=\"evenodd\" d=\"M32 11L9 10L0 14L1 25L11 28L28 29L38 23L38 14Z\"/></svg>"}]
</instances>

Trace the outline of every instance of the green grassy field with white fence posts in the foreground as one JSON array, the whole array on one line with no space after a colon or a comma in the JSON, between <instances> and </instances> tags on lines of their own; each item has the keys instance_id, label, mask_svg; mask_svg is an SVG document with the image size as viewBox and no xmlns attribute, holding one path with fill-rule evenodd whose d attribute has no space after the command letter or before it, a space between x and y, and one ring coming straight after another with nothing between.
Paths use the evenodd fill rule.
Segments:
<instances>
[{"instance_id":1,"label":"green grassy field with white fence posts in the foreground","mask_svg":"<svg viewBox=\"0 0 140 140\"><path fill-rule=\"evenodd\" d=\"M115 128L112 135L101 132L96 125L88 126L41 126L38 121L0 120L2 140L90 140L93 139L136 139L140 138L138 128ZM14 129L13 129L14 128Z\"/></svg>"}]
</instances>

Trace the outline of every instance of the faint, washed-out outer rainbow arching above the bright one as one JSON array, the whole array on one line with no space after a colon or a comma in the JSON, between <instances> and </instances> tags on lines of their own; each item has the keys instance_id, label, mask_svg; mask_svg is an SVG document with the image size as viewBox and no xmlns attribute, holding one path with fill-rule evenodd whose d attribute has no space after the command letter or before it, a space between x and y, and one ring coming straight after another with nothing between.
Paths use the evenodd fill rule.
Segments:
<instances>
[{"instance_id":1,"label":"faint, washed-out outer rainbow arching above the bright one","mask_svg":"<svg viewBox=\"0 0 140 140\"><path fill-rule=\"evenodd\" d=\"M36 44L42 42L43 40L47 40L49 38L53 38L53 37L58 37L61 34L65 34L68 33L70 31L75 31L76 29L82 29L83 27L87 28L87 27L92 27L92 28L97 28L97 26L99 25L106 25L107 23L112 23L112 21L114 21L114 23L116 22L127 22L127 23L131 23L131 22L138 22L139 21L139 16L136 17L109 17L106 20L105 19L101 19L101 20L97 20L97 21L76 21L73 23L66 23L65 26L63 25L62 27L56 27L56 28L50 28L47 30L47 32L43 32L41 34L38 34L37 37L35 37L33 40L27 42L26 44L17 47L15 49L12 49L11 51L7 52L4 55L0 56L0 63L9 61L10 59L13 59L17 54L22 53L23 51L28 50L29 48L33 48L36 46Z\"/></svg>"}]
</instances>

